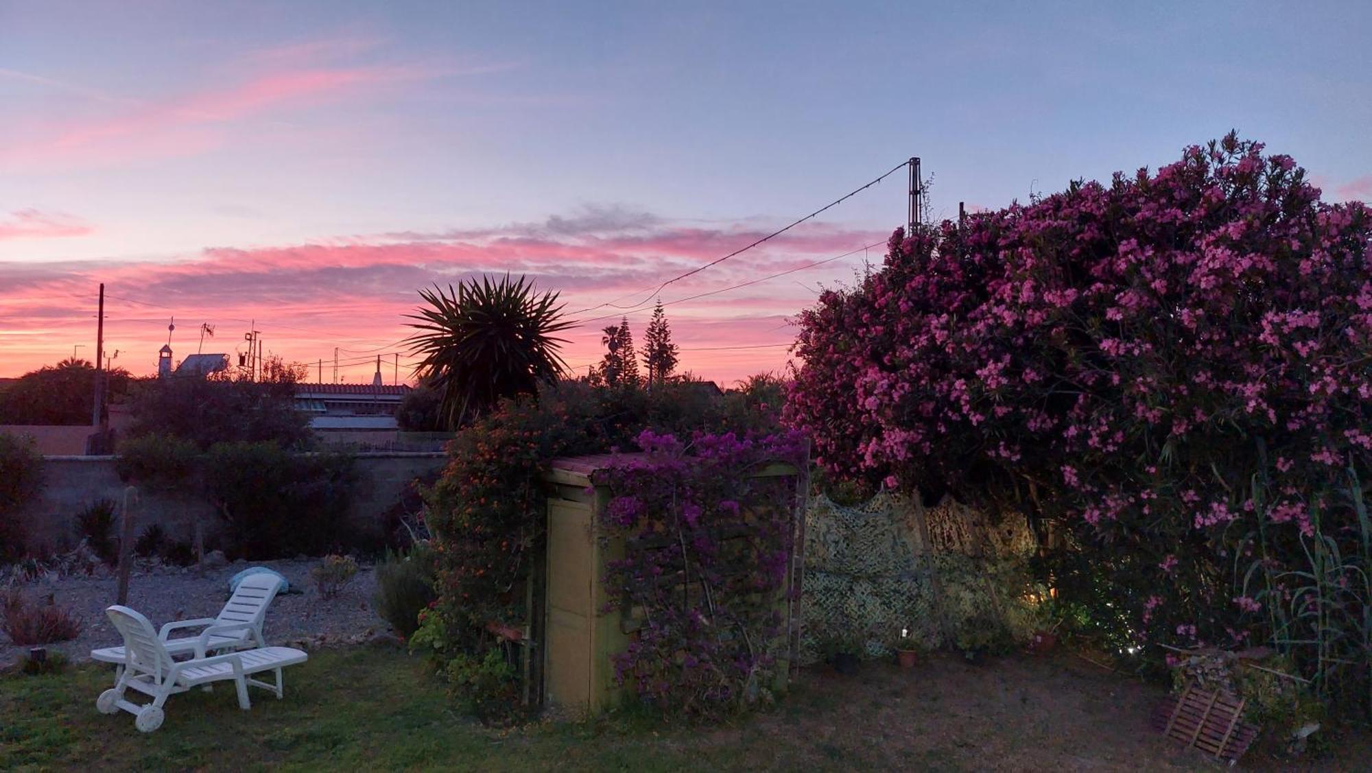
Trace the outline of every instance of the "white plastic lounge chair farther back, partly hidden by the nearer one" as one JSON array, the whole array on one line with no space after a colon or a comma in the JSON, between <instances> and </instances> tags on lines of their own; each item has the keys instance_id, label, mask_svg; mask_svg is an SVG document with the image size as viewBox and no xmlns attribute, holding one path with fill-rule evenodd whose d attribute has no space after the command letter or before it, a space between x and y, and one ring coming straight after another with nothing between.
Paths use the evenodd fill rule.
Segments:
<instances>
[{"instance_id":1,"label":"white plastic lounge chair farther back, partly hidden by the nearer one","mask_svg":"<svg viewBox=\"0 0 1372 773\"><path fill-rule=\"evenodd\" d=\"M220 610L220 617L169 622L158 632L158 639L174 658L187 655L203 658L209 654L244 647L266 647L266 640L262 637L262 624L266 619L266 607L280 589L281 580L274 574L266 572L248 574ZM202 626L204 630L198 636L169 639L173 630ZM118 666L123 663L123 647L92 650L91 659Z\"/></svg>"}]
</instances>

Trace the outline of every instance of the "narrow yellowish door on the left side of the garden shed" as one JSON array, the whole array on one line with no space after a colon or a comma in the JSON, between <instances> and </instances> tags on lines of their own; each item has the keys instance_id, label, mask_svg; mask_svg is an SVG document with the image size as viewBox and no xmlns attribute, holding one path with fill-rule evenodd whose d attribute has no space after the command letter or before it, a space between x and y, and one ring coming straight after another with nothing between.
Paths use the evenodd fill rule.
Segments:
<instances>
[{"instance_id":1,"label":"narrow yellowish door on the left side of the garden shed","mask_svg":"<svg viewBox=\"0 0 1372 773\"><path fill-rule=\"evenodd\" d=\"M547 500L547 698L589 709L591 625L595 622L591 507Z\"/></svg>"}]
</instances>

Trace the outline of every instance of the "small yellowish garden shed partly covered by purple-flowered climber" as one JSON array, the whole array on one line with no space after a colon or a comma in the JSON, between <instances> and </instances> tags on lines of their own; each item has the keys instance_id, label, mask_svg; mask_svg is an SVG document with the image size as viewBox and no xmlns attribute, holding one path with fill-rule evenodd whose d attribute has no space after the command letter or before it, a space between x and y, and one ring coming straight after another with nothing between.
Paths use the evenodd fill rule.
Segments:
<instances>
[{"instance_id":1,"label":"small yellowish garden shed partly covered by purple-flowered climber","mask_svg":"<svg viewBox=\"0 0 1372 773\"><path fill-rule=\"evenodd\" d=\"M546 476L550 485L547 498L547 565L545 603L543 695L545 700L572 710L595 714L613 706L623 687L616 684L615 655L624 652L638 636L643 625L643 610L623 599L613 598L604 581L612 562L623 559L627 550L663 550L665 544L638 539L626 544L623 537L611 537L602 524L602 514L612 500L609 487L597 476L612 465L641 459L639 454L601 454L591 456L561 458L552 463ZM794 662L796 629L793 622L793 588L799 589L800 559L790 545L801 545L801 506L804 489L797 469L785 463L760 466L748 476L759 491L775 492L771 496L775 507L782 507L788 518L785 539L788 565L779 592L768 596L779 615L785 640L779 641L782 652L778 683L771 688L785 687L785 676ZM746 522L746 515L740 522ZM746 528L722 526L718 537L720 544L737 540L750 540ZM682 572L668 572L657 580L663 587L672 587L686 599L708 593L697 581L698 573L690 567ZM678 593L674 593L678 595ZM691 602L694 603L694 602Z\"/></svg>"}]
</instances>

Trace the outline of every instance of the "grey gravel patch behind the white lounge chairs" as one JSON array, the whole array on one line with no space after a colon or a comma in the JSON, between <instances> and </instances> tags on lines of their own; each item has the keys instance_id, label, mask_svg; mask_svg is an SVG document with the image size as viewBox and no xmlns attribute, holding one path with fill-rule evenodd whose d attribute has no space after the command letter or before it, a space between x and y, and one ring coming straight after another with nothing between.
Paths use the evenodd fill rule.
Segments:
<instances>
[{"instance_id":1,"label":"grey gravel patch behind the white lounge chairs","mask_svg":"<svg viewBox=\"0 0 1372 773\"><path fill-rule=\"evenodd\" d=\"M376 573L362 566L353 581L333 599L325 600L314 588L310 569L318 559L235 562L224 569L210 569L198 576L193 569L151 569L134 572L129 578L129 603L143 613L154 628L177 619L214 617L229 598L229 578L248 566L266 566L285 576L289 593L277 593L266 613L263 635L268 644L307 640L310 646L366 641L390 630L372 610ZM104 609L114 603L114 577L44 578L18 585L30 602L41 603L49 593L85 624L81 636L71 641L48 644L71 661L89 661L91 650L122 644L110 625ZM184 635L184 633L182 633ZM29 647L19 647L0 633L0 666L26 658Z\"/></svg>"}]
</instances>

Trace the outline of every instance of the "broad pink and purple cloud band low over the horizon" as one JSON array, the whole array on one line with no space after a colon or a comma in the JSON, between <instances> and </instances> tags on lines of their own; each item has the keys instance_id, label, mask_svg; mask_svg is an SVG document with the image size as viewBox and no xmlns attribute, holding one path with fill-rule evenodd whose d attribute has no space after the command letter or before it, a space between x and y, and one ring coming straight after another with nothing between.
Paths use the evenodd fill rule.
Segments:
<instances>
[{"instance_id":1,"label":"broad pink and purple cloud band low over the horizon","mask_svg":"<svg viewBox=\"0 0 1372 773\"><path fill-rule=\"evenodd\" d=\"M0 336L5 336L7 371L26 370L70 352L92 334L95 286L104 281L110 299L108 347L125 352L136 373L154 367L166 343L169 317L177 318L177 352L193 351L200 322L220 326L217 347L230 349L250 319L263 330L268 348L302 362L332 359L333 347L375 348L407 336L405 314L416 291L447 285L482 273L523 273L539 288L561 292L567 308L587 308L623 296L622 306L648 300L646 288L694 269L768 233L766 226L681 226L654 215L617 212L549 218L493 229L347 237L280 247L215 247L178 262L103 260L0 266ZM409 236L410 238L397 238ZM779 369L794 330L786 319L814 303L814 282L851 278L852 262L799 273L760 285L671 304L702 292L729 288L772 273L797 269L885 233L805 225L738 258L720 263L663 292L685 352L683 366L731 382L757 370ZM855 260L860 260L859 252ZM11 270L19 269L22 270ZM583 363L600 356L595 317L628 315L641 334L650 308L597 308L568 337L567 358ZM44 330L43 336L26 334ZM757 349L723 347L767 344ZM207 344L210 345L210 344ZM59 351L60 349L60 351ZM206 351L220 351L206 349ZM387 349L390 352L391 349ZM132 354L130 354L132 352ZM346 354L346 352L344 352ZM391 356L387 356L390 360ZM402 366L407 356L402 355ZM369 378L365 366L351 377ZM580 365L578 365L580 367ZM331 370L327 367L325 370ZM402 367L403 370L403 367ZM8 374L8 373L7 373Z\"/></svg>"}]
</instances>

